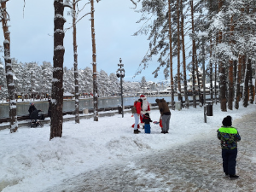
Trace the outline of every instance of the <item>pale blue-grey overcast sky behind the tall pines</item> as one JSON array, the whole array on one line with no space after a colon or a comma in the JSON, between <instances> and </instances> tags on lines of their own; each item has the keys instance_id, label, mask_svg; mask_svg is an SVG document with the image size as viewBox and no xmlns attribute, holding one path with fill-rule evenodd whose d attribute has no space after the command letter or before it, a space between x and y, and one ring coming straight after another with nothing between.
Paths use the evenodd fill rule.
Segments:
<instances>
[{"instance_id":1,"label":"pale blue-grey overcast sky behind the tall pines","mask_svg":"<svg viewBox=\"0 0 256 192\"><path fill-rule=\"evenodd\" d=\"M84 0L84 3L88 2ZM24 1L9 0L7 9L10 16L11 57L21 62L37 61L40 65L43 61L53 63L53 3L54 0L26 0L23 8ZM80 8L81 5L80 3ZM89 5L87 7L90 9ZM147 70L132 79L143 55L148 50L146 36L132 36L141 27L141 24L136 23L141 15L131 9L134 7L130 0L102 0L99 3L95 1L97 71L102 69L108 75L115 73L121 57L125 64L124 80L140 81L143 76L146 80L162 80L164 79L162 73L157 79L151 74L159 66L153 61L150 62ZM65 28L72 22L67 11L68 8L64 11L67 19ZM77 26L79 69L91 67L92 62L89 19L90 15L85 16ZM3 42L3 31L0 41ZM71 68L73 67L73 29L66 32L64 47L66 49L64 67Z\"/></svg>"}]
</instances>

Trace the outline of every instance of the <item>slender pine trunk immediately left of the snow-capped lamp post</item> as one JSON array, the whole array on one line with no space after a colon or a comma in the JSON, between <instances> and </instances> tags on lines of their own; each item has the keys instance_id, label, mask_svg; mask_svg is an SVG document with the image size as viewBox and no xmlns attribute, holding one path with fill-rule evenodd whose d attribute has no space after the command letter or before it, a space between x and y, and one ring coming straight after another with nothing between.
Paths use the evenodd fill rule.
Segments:
<instances>
[{"instance_id":1,"label":"slender pine trunk immediately left of the snow-capped lamp post","mask_svg":"<svg viewBox=\"0 0 256 192\"><path fill-rule=\"evenodd\" d=\"M192 39L192 94L193 94L193 108L196 108L196 94L195 94L195 54L196 54L196 45L195 45L195 28L194 28L194 8L193 0L190 1L191 7L191 29L193 34Z\"/></svg>"}]
</instances>

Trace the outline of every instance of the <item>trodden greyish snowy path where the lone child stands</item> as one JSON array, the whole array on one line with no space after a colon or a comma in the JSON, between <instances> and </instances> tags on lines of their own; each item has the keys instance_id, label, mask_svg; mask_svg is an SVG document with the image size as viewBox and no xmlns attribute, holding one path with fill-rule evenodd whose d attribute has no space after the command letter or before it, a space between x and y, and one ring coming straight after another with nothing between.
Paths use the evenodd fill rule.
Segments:
<instances>
[{"instance_id":1,"label":"trodden greyish snowy path where the lone child stands","mask_svg":"<svg viewBox=\"0 0 256 192\"><path fill-rule=\"evenodd\" d=\"M126 165L122 162L84 172L47 191L256 191L255 116L256 113L252 113L236 120L241 135L237 180L224 177L221 148L214 133L189 146L134 157Z\"/></svg>"}]
</instances>

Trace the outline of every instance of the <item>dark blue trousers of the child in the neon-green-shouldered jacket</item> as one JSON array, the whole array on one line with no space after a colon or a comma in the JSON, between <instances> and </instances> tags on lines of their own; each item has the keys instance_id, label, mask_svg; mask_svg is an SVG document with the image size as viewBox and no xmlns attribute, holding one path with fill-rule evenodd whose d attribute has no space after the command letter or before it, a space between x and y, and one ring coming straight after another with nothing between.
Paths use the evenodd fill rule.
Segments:
<instances>
[{"instance_id":1,"label":"dark blue trousers of the child in the neon-green-shouldered jacket","mask_svg":"<svg viewBox=\"0 0 256 192\"><path fill-rule=\"evenodd\" d=\"M222 149L223 171L229 175L236 174L237 148Z\"/></svg>"}]
</instances>

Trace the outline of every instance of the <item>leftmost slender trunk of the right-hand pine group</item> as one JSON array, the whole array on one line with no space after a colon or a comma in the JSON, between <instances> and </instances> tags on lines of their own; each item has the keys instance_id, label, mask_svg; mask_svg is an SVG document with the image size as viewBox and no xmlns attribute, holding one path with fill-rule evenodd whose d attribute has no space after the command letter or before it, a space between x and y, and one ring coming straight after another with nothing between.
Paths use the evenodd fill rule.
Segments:
<instances>
[{"instance_id":1,"label":"leftmost slender trunk of the right-hand pine group","mask_svg":"<svg viewBox=\"0 0 256 192\"><path fill-rule=\"evenodd\" d=\"M169 22L169 45L170 45L170 73L171 73L171 94L172 94L172 110L175 110L174 106L174 84L173 84L173 73L172 73L172 18L171 18L171 0L168 0L168 22Z\"/></svg>"}]
</instances>

